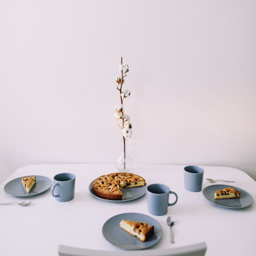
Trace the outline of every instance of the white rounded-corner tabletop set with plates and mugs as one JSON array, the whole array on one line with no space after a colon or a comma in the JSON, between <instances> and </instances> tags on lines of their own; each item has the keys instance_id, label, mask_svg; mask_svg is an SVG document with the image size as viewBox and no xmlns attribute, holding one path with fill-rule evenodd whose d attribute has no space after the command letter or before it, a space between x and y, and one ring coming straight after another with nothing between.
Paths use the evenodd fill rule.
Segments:
<instances>
[{"instance_id":1,"label":"white rounded-corner tabletop set with plates and mugs","mask_svg":"<svg viewBox=\"0 0 256 256\"><path fill-rule=\"evenodd\" d=\"M243 171L229 167L202 166L203 189L213 185L205 178L234 180L230 183L256 198L256 182ZM24 175L43 175L52 179L62 172L76 175L75 198L70 202L57 202L50 190L31 196L26 207L0 206L1 256L25 256L27 247L37 256L57 256L58 245L88 249L121 249L109 243L102 235L103 224L119 213L144 213L157 220L163 229L162 238L152 249L180 247L205 241L207 256L255 255L256 205L229 209L209 202L202 191L184 189L182 165L137 165L132 169L145 178L147 184L164 183L178 194L178 202L168 208L164 216L153 216L147 211L146 195L130 202L109 202L95 198L89 184L95 178L116 172L109 164L50 164L25 166L14 172L0 185L0 202L22 202L24 198L4 192L4 185ZM223 183L223 182L222 182ZM215 183L216 184L216 183ZM221 182L218 182L221 184ZM225 183L223 183L225 184ZM170 199L171 201L171 199ZM170 242L167 216L175 220L175 244Z\"/></svg>"}]
</instances>

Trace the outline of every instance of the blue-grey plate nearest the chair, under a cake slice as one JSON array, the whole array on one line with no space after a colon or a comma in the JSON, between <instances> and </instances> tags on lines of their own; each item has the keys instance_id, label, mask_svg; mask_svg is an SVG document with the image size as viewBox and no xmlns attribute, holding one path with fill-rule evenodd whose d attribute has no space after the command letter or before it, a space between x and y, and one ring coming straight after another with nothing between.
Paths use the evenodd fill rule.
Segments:
<instances>
[{"instance_id":1,"label":"blue-grey plate nearest the chair, under a cake slice","mask_svg":"<svg viewBox=\"0 0 256 256\"><path fill-rule=\"evenodd\" d=\"M132 220L146 222L149 226L154 226L154 234L146 242L142 242L137 236L131 236L128 232L120 227L121 220ZM121 213L108 219L103 227L102 234L108 242L121 249L139 250L146 249L155 245L162 236L162 227L155 219L141 213Z\"/></svg>"}]
</instances>

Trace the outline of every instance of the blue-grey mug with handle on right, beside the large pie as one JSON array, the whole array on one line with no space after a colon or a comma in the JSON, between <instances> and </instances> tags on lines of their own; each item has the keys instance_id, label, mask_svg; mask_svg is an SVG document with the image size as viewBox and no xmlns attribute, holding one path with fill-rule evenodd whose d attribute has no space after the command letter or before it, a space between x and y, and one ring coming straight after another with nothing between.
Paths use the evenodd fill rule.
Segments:
<instances>
[{"instance_id":1,"label":"blue-grey mug with handle on right, beside the large pie","mask_svg":"<svg viewBox=\"0 0 256 256\"><path fill-rule=\"evenodd\" d=\"M170 194L174 194L176 197L173 203L169 203ZM175 192L171 191L168 186L159 183L148 185L146 195L148 212L155 216L166 214L168 207L176 204L178 201L178 196Z\"/></svg>"}]
</instances>

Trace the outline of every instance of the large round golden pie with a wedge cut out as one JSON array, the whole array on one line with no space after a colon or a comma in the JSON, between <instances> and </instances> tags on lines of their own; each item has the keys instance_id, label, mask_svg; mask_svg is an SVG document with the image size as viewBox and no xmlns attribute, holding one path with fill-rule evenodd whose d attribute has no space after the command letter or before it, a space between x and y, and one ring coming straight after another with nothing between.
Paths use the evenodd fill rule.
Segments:
<instances>
[{"instance_id":1,"label":"large round golden pie with a wedge cut out","mask_svg":"<svg viewBox=\"0 0 256 256\"><path fill-rule=\"evenodd\" d=\"M122 188L133 188L144 186L145 184L143 177L133 173L110 173L94 180L92 190L100 198L122 200Z\"/></svg>"}]
</instances>

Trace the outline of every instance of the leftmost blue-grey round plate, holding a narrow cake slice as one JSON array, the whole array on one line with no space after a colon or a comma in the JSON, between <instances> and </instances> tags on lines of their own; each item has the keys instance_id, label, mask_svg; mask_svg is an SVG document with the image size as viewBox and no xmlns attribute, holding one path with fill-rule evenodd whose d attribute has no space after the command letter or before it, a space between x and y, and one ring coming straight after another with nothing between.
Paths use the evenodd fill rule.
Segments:
<instances>
[{"instance_id":1,"label":"leftmost blue-grey round plate, holding a narrow cake slice","mask_svg":"<svg viewBox=\"0 0 256 256\"><path fill-rule=\"evenodd\" d=\"M27 194L27 192L25 191L21 183L21 178L28 177L28 176L35 176L36 184L33 186L31 191ZM48 177L45 177L45 176L26 175L22 177L11 180L7 184L5 184L4 192L9 195L14 195L18 197L27 197L27 196L33 196L33 195L38 195L40 193L43 193L52 186L52 180L50 180Z\"/></svg>"}]
</instances>

